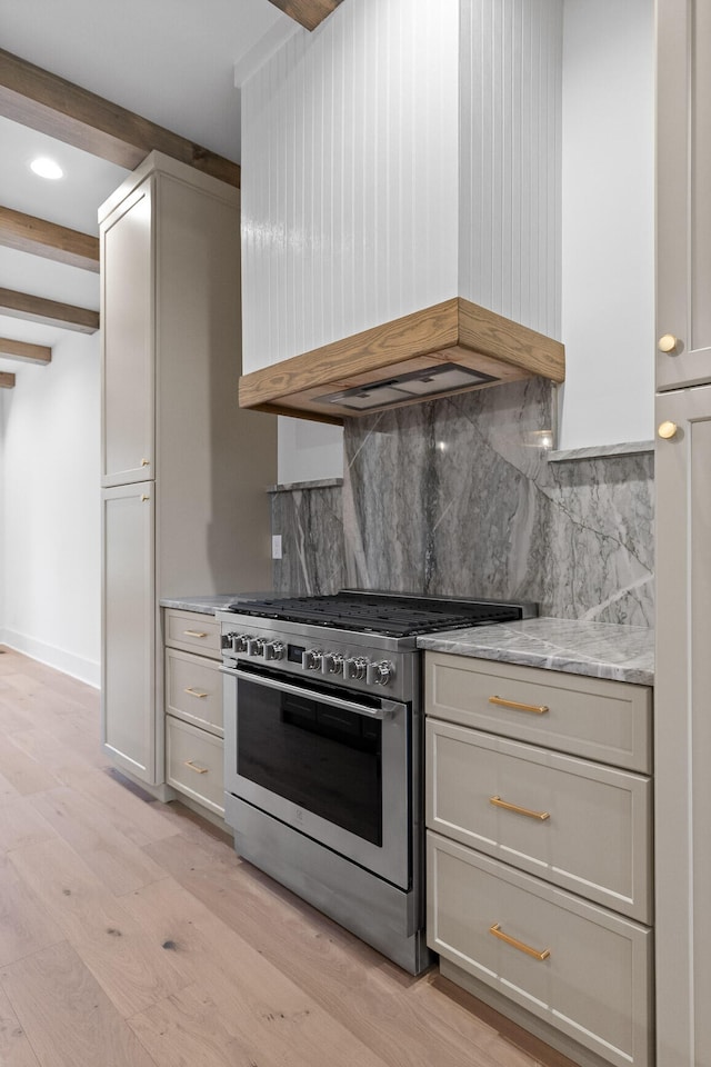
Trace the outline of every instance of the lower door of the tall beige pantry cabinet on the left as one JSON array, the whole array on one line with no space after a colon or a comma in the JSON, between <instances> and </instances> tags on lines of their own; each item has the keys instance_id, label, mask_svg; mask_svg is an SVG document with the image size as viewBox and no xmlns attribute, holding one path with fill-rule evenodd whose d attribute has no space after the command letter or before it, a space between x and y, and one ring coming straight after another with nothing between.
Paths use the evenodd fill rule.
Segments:
<instances>
[{"instance_id":1,"label":"lower door of the tall beige pantry cabinet on the left","mask_svg":"<svg viewBox=\"0 0 711 1067\"><path fill-rule=\"evenodd\" d=\"M117 765L156 784L152 498L152 483L104 491L101 724Z\"/></svg>"}]
</instances>

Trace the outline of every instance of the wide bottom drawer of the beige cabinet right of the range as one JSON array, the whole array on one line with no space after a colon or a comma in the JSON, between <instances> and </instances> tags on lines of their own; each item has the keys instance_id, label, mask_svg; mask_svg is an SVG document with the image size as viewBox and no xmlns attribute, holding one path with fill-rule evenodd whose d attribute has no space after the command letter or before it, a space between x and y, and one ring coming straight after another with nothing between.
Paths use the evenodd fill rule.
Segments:
<instances>
[{"instance_id":1,"label":"wide bottom drawer of the beige cabinet right of the range","mask_svg":"<svg viewBox=\"0 0 711 1067\"><path fill-rule=\"evenodd\" d=\"M428 944L619 1067L649 1067L651 930L428 831Z\"/></svg>"}]
</instances>

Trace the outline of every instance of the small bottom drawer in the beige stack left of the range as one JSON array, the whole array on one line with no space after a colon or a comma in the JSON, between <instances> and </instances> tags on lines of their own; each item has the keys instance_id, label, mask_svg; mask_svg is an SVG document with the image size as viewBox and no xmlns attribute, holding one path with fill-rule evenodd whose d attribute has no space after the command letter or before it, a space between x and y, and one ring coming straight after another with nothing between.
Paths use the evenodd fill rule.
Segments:
<instances>
[{"instance_id":1,"label":"small bottom drawer in the beige stack left of the range","mask_svg":"<svg viewBox=\"0 0 711 1067\"><path fill-rule=\"evenodd\" d=\"M224 815L222 739L166 716L166 777L169 785L217 815Z\"/></svg>"}]
</instances>

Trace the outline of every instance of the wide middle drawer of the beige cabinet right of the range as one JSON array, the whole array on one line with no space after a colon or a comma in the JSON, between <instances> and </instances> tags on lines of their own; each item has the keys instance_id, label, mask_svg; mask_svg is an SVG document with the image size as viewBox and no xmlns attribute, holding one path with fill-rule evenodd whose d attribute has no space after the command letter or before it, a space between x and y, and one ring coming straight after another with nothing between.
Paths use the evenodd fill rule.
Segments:
<instances>
[{"instance_id":1,"label":"wide middle drawer of the beige cabinet right of the range","mask_svg":"<svg viewBox=\"0 0 711 1067\"><path fill-rule=\"evenodd\" d=\"M430 829L651 921L650 778L432 718L425 752Z\"/></svg>"}]
</instances>

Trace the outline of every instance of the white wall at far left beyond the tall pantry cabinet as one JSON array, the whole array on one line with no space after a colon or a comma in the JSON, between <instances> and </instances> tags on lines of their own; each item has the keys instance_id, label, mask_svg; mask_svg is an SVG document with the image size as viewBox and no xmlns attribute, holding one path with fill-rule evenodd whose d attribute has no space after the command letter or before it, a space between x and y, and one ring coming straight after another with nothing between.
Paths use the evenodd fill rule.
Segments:
<instances>
[{"instance_id":1,"label":"white wall at far left beyond the tall pantry cabinet","mask_svg":"<svg viewBox=\"0 0 711 1067\"><path fill-rule=\"evenodd\" d=\"M4 641L99 685L99 335L66 333L4 398Z\"/></svg>"}]
</instances>

